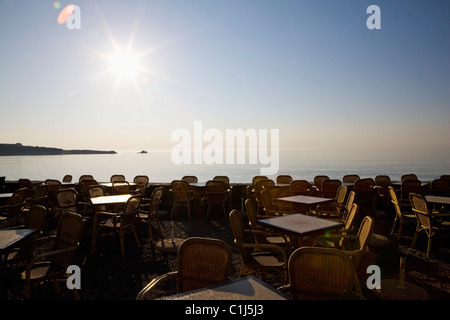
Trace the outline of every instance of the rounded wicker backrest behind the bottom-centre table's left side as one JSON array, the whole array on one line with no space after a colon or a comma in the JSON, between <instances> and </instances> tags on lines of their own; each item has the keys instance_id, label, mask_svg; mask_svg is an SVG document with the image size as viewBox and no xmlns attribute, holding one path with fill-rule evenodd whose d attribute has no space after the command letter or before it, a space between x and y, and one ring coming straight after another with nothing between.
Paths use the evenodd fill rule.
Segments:
<instances>
[{"instance_id":1,"label":"rounded wicker backrest behind the bottom-centre table's left side","mask_svg":"<svg viewBox=\"0 0 450 320\"><path fill-rule=\"evenodd\" d=\"M177 253L177 291L186 292L228 280L231 248L222 240L193 237L183 241Z\"/></svg>"}]
</instances>

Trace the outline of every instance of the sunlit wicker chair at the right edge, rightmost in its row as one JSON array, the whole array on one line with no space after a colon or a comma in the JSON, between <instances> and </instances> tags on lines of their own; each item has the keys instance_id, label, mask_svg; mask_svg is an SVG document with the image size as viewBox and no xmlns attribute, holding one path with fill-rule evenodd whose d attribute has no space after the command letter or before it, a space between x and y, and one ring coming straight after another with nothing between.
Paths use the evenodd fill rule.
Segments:
<instances>
[{"instance_id":1,"label":"sunlit wicker chair at the right edge, rightmost in its row","mask_svg":"<svg viewBox=\"0 0 450 320\"><path fill-rule=\"evenodd\" d=\"M417 228L411 248L414 248L419 233L423 231L428 237L427 257L430 257L433 237L442 233L447 233L448 235L450 232L450 221L448 220L450 214L432 212L428 209L425 197L420 194L411 193L409 197L411 199L412 210L417 217ZM444 218L447 218L447 220Z\"/></svg>"}]
</instances>

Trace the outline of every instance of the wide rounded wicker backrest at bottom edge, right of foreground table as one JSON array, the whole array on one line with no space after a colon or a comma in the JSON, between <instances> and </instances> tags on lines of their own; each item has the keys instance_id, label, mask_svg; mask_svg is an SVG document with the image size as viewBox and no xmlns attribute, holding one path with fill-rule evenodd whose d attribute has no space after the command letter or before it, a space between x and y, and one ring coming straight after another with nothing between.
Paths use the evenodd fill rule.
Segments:
<instances>
[{"instance_id":1,"label":"wide rounded wicker backrest at bottom edge, right of foreground table","mask_svg":"<svg viewBox=\"0 0 450 320\"><path fill-rule=\"evenodd\" d=\"M353 261L345 252L323 247L295 250L288 273L292 298L304 300L350 299L357 279Z\"/></svg>"}]
</instances>

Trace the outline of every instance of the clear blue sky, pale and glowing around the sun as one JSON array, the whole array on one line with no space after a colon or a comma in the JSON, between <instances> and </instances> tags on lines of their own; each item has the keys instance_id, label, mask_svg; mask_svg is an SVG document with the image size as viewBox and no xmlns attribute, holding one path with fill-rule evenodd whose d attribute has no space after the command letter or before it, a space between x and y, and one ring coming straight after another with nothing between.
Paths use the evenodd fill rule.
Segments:
<instances>
[{"instance_id":1,"label":"clear blue sky, pale and glowing around the sun","mask_svg":"<svg viewBox=\"0 0 450 320\"><path fill-rule=\"evenodd\" d=\"M71 3L79 30L57 22ZM1 0L0 143L170 149L202 121L278 129L280 148L450 148L449 16L448 0Z\"/></svg>"}]
</instances>

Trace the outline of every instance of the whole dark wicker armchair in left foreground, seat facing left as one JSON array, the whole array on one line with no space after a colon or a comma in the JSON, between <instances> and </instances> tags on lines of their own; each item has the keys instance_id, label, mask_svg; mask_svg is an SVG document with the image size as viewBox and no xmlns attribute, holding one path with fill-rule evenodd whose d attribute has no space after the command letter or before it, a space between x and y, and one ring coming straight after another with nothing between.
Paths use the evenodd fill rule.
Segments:
<instances>
[{"instance_id":1,"label":"whole dark wicker armchair in left foreground, seat facing left","mask_svg":"<svg viewBox=\"0 0 450 320\"><path fill-rule=\"evenodd\" d=\"M22 273L22 279L25 280L26 297L30 298L32 286L42 284L44 282L66 282L67 267L72 264L76 250L80 243L83 229L83 218L74 212L66 212L61 216L56 231L56 236L39 238L33 241L33 245L40 248L39 254L33 256L28 263L26 270ZM51 247L44 243L52 243ZM48 250L50 248L50 250ZM43 261L44 260L44 261ZM57 288L55 286L55 288ZM75 298L78 293L74 290Z\"/></svg>"}]
</instances>

